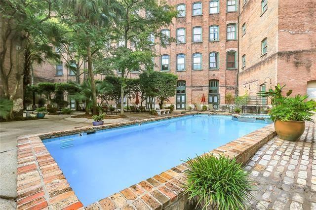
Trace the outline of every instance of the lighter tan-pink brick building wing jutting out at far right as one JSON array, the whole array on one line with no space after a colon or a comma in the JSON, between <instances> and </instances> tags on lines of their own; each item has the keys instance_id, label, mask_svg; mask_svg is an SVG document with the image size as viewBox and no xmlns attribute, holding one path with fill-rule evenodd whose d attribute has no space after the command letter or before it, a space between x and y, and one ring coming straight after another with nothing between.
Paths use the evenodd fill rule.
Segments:
<instances>
[{"instance_id":1,"label":"lighter tan-pink brick building wing jutting out at far right","mask_svg":"<svg viewBox=\"0 0 316 210\"><path fill-rule=\"evenodd\" d=\"M243 0L239 14L239 95L277 83L316 99L316 2Z\"/></svg>"}]
</instances>

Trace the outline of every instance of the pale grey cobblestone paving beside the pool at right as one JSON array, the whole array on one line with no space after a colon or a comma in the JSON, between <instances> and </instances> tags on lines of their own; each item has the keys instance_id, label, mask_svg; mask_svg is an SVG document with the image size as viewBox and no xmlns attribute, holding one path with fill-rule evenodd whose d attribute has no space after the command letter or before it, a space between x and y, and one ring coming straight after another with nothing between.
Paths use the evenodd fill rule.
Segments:
<instances>
[{"instance_id":1,"label":"pale grey cobblestone paving beside the pool at right","mask_svg":"<svg viewBox=\"0 0 316 210\"><path fill-rule=\"evenodd\" d=\"M316 127L299 141L278 137L261 147L245 169L254 181L252 209L316 210Z\"/></svg>"}]
</instances>

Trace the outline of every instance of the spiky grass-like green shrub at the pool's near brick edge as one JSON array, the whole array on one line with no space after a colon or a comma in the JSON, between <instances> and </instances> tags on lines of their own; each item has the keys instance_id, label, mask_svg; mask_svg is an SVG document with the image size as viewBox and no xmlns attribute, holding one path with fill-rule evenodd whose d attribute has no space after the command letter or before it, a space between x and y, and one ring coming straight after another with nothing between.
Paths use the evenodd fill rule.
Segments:
<instances>
[{"instance_id":1,"label":"spiky grass-like green shrub at the pool's near brick edge","mask_svg":"<svg viewBox=\"0 0 316 210\"><path fill-rule=\"evenodd\" d=\"M189 159L185 193L190 202L205 210L245 209L253 197L252 185L241 164L224 156L204 155Z\"/></svg>"}]
</instances>

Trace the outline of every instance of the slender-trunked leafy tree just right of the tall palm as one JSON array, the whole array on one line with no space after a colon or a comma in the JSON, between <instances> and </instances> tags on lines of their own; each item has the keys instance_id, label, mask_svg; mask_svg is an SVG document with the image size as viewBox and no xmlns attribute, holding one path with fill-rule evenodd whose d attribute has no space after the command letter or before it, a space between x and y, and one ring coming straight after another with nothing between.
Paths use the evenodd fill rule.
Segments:
<instances>
[{"instance_id":1,"label":"slender-trunked leafy tree just right of the tall palm","mask_svg":"<svg viewBox=\"0 0 316 210\"><path fill-rule=\"evenodd\" d=\"M120 3L122 14L112 34L118 48L113 49L108 63L109 68L120 74L120 106L123 107L125 78L129 72L153 69L154 43L148 37L151 34L161 36L160 28L170 25L177 12L165 2L156 0L123 0ZM133 43L134 49L128 49L127 43ZM123 114L123 109L120 110Z\"/></svg>"}]
</instances>

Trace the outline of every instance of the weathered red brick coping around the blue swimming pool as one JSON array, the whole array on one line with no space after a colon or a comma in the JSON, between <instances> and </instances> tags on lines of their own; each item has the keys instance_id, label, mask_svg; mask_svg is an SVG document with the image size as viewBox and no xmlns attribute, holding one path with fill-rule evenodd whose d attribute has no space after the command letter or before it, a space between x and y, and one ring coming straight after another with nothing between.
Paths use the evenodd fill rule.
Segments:
<instances>
[{"instance_id":1,"label":"weathered red brick coping around the blue swimming pool","mask_svg":"<svg viewBox=\"0 0 316 210\"><path fill-rule=\"evenodd\" d=\"M63 172L44 146L42 139L56 138L138 123L197 114L170 115L125 123L81 127L73 130L26 135L17 138L17 209L164 209L183 199L185 171L182 163L159 175L134 184L118 193L83 207ZM205 113L205 112L204 112ZM265 126L209 153L223 154L245 163L263 144L276 135L273 125Z\"/></svg>"}]
</instances>

